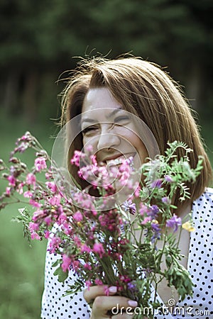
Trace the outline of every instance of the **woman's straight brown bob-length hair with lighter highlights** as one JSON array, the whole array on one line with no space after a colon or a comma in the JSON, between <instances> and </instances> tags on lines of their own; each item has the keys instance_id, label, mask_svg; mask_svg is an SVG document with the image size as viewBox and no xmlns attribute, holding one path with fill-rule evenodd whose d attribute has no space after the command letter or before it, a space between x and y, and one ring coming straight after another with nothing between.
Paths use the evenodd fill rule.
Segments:
<instances>
[{"instance_id":1,"label":"woman's straight brown bob-length hair with lighter highlights","mask_svg":"<svg viewBox=\"0 0 213 319\"><path fill-rule=\"evenodd\" d=\"M185 142L193 150L189 154L191 167L196 167L199 156L203 157L202 172L194 184L188 185L191 198L185 204L198 198L209 185L212 168L191 108L180 86L158 65L140 57L83 59L62 92L61 124L80 115L87 91L99 87L109 89L124 110L138 116L148 125L158 143L160 154L165 153L168 142L178 140ZM68 156L70 158L73 149L82 150L81 134L73 142ZM177 155L178 158L182 156L181 149ZM69 170L77 179L76 168L70 165ZM180 209L182 203L178 202L178 196L177 194L174 198L174 203Z\"/></svg>"}]
</instances>

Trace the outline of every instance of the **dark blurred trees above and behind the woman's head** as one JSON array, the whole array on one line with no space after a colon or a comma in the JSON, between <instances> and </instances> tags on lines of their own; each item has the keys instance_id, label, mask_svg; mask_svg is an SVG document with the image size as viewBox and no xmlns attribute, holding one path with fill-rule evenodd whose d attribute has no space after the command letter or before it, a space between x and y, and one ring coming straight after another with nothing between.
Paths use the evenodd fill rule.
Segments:
<instances>
[{"instance_id":1,"label":"dark blurred trees above and behind the woman's head","mask_svg":"<svg viewBox=\"0 0 213 319\"><path fill-rule=\"evenodd\" d=\"M167 66L192 106L212 114L212 13L211 0L2 0L1 107L31 121L58 116L55 82L71 57L132 52Z\"/></svg>"}]
</instances>

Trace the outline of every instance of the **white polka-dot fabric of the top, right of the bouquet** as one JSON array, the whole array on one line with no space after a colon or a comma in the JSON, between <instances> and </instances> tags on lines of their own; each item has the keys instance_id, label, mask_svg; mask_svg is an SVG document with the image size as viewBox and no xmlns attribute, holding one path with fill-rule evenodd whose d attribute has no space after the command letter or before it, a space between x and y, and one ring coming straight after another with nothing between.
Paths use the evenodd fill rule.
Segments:
<instances>
[{"instance_id":1,"label":"white polka-dot fabric of the top, right of the bouquet","mask_svg":"<svg viewBox=\"0 0 213 319\"><path fill-rule=\"evenodd\" d=\"M200 196L192 207L195 232L190 235L187 269L194 284L192 297L177 303L177 310L155 315L154 319L212 319L213 318L213 189Z\"/></svg>"}]
</instances>

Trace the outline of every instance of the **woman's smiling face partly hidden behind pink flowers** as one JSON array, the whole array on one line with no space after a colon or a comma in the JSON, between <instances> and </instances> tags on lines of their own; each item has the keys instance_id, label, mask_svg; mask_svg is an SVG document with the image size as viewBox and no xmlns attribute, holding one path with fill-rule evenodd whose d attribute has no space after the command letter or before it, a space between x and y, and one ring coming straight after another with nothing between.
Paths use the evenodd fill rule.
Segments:
<instances>
[{"instance_id":1,"label":"woman's smiling face partly hidden behind pink flowers","mask_svg":"<svg viewBox=\"0 0 213 319\"><path fill-rule=\"evenodd\" d=\"M109 89L89 89L82 106L83 145L92 145L98 162L133 157L136 168L148 157L131 114L114 99ZM85 147L86 148L86 147Z\"/></svg>"}]
</instances>

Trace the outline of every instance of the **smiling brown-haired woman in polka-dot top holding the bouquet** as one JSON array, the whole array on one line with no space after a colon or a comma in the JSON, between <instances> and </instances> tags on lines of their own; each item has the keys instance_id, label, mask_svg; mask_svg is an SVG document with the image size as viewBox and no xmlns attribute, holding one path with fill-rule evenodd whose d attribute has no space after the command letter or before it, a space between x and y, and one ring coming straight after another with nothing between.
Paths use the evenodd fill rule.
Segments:
<instances>
[{"instance_id":1,"label":"smiling brown-haired woman in polka-dot top holding the bouquet","mask_svg":"<svg viewBox=\"0 0 213 319\"><path fill-rule=\"evenodd\" d=\"M206 188L212 170L197 125L180 87L157 65L140 58L94 59L83 61L73 74L64 91L62 105L62 124L82 115L81 132L70 147L70 157L74 149L82 150L84 145L92 144L97 159L106 164L115 158L124 155L129 157L135 153L137 155L134 157L135 164L144 162L151 152L153 143L151 140L147 142L144 138L142 140L138 138L138 131L143 128L133 123L131 116L126 116L129 113L148 126L157 142L160 154L164 154L168 141L179 140L193 150L189 155L191 167L196 166L200 155L203 157L200 176L195 184L188 185L191 198L184 204L178 201L179 194L174 198L174 203L178 206L176 213L181 218L193 210L196 228L196 232L191 236L187 232L182 232L180 240L180 250L185 255L182 264L190 271L195 287L192 298L187 297L185 301L178 303L178 306L184 308L182 313L178 314L178 318L191 318L192 315L200 318L199 311L203 311L202 318L210 318L209 312L212 310L210 281L213 276L210 274L212 235L209 232L213 194ZM69 133L67 136L69 140ZM181 156L179 150L178 157ZM70 172L77 179L75 167L70 166ZM80 180L78 182L81 183ZM53 259L47 255L42 318L131 318L132 315L128 313L119 313L113 317L107 314L116 304L119 304L120 308L137 306L136 301L116 296L114 286L110 287L109 296L104 293L106 287L93 286L74 297L62 297L75 274L70 271L65 284L58 283L51 267ZM165 306L168 306L170 298L178 302L178 296L165 282L159 286L158 295ZM90 310L88 304L91 301L94 302ZM157 314L155 318L175 317L175 313L171 312L173 310L170 309L168 315Z\"/></svg>"}]
</instances>

